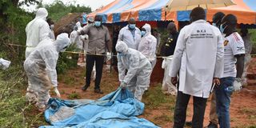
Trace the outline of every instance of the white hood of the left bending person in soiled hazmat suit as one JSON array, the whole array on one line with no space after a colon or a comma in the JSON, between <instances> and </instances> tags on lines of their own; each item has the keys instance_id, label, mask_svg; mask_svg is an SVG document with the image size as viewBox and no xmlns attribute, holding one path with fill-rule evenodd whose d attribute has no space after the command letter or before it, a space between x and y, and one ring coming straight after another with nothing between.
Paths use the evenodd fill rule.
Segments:
<instances>
[{"instance_id":1,"label":"white hood of the left bending person in soiled hazmat suit","mask_svg":"<svg viewBox=\"0 0 256 128\"><path fill-rule=\"evenodd\" d=\"M54 43L58 52L64 52L68 46L70 46L70 38L66 33L59 34Z\"/></svg>"}]
</instances>

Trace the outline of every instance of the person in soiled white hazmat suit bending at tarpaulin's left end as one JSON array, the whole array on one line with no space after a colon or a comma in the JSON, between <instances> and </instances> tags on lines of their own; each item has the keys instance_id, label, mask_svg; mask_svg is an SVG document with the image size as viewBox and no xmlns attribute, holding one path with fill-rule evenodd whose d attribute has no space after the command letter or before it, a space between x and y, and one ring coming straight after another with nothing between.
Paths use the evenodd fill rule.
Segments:
<instances>
[{"instance_id":1,"label":"person in soiled white hazmat suit bending at tarpaulin's left end","mask_svg":"<svg viewBox=\"0 0 256 128\"><path fill-rule=\"evenodd\" d=\"M26 58L24 69L30 82L26 92L26 99L36 102L38 110L45 110L50 98L49 90L54 88L54 92L60 98L57 86L56 65L58 53L64 52L70 45L68 34L59 34L53 42L47 38L40 42L34 51Z\"/></svg>"}]
</instances>

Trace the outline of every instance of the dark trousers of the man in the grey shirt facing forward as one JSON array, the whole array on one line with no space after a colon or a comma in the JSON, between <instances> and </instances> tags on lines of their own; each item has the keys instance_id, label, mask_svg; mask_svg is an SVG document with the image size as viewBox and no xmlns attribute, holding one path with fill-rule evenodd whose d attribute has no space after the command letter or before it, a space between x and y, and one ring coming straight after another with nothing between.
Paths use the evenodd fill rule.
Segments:
<instances>
[{"instance_id":1,"label":"dark trousers of the man in the grey shirt facing forward","mask_svg":"<svg viewBox=\"0 0 256 128\"><path fill-rule=\"evenodd\" d=\"M86 55L86 86L90 86L90 76L94 68L94 62L96 62L96 79L95 79L95 87L94 87L94 90L96 90L96 89L100 89L104 56L91 55L91 54Z\"/></svg>"}]
</instances>

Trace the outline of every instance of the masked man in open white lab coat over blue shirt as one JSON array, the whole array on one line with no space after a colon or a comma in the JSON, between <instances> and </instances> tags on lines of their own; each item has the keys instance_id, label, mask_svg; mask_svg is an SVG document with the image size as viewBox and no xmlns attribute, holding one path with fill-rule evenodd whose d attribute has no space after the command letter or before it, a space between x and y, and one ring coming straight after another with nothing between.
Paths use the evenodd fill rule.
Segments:
<instances>
[{"instance_id":1,"label":"masked man in open white lab coat over blue shirt","mask_svg":"<svg viewBox=\"0 0 256 128\"><path fill-rule=\"evenodd\" d=\"M138 50L138 43L141 42L141 30L136 27L134 18L130 18L129 25L123 27L118 34L118 42L126 42L126 45L134 50Z\"/></svg>"}]
</instances>

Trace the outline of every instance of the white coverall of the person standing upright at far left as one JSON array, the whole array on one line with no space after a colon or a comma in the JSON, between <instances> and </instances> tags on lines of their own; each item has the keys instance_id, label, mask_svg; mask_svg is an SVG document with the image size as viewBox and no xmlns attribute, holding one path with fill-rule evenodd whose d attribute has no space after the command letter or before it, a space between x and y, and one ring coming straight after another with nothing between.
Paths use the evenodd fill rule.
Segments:
<instances>
[{"instance_id":1,"label":"white coverall of the person standing upright at far left","mask_svg":"<svg viewBox=\"0 0 256 128\"><path fill-rule=\"evenodd\" d=\"M39 8L35 18L26 25L26 58L39 42L50 38L50 26L46 22L47 16L47 10Z\"/></svg>"}]
</instances>

